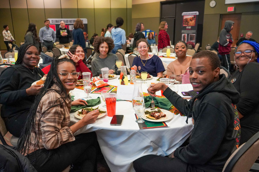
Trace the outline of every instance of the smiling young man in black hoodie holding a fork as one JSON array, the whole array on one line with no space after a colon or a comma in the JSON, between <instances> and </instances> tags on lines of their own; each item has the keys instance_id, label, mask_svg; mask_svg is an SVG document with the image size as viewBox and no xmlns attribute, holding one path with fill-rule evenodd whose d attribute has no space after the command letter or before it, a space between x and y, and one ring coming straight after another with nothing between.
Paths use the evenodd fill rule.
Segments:
<instances>
[{"instance_id":1,"label":"smiling young man in black hoodie holding a fork","mask_svg":"<svg viewBox=\"0 0 259 172\"><path fill-rule=\"evenodd\" d=\"M182 99L163 83L148 88L151 96L163 90L163 95L184 115L193 117L190 142L177 148L172 158L146 155L133 162L136 172L186 171L220 172L235 145L234 104L239 93L224 74L216 54L201 51L191 60L190 82L199 92L190 101ZM186 120L186 122L187 122Z\"/></svg>"}]
</instances>

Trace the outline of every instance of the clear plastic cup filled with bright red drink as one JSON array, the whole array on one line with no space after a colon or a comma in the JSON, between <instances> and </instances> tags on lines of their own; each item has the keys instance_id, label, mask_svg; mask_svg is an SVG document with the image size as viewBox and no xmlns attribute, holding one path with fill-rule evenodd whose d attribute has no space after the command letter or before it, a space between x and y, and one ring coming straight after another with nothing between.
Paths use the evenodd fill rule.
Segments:
<instances>
[{"instance_id":1,"label":"clear plastic cup filled with bright red drink","mask_svg":"<svg viewBox=\"0 0 259 172\"><path fill-rule=\"evenodd\" d=\"M105 103L107 109L107 115L112 117L116 113L116 93L106 93L105 94Z\"/></svg>"}]
</instances>

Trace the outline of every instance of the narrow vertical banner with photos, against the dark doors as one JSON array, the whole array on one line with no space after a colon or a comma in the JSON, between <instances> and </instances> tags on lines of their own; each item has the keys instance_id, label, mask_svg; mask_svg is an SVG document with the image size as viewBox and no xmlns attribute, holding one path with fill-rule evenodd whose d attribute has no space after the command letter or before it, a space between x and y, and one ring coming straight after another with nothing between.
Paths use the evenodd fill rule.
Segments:
<instances>
[{"instance_id":1,"label":"narrow vertical banner with photos, against the dark doors","mask_svg":"<svg viewBox=\"0 0 259 172\"><path fill-rule=\"evenodd\" d=\"M182 13L182 41L196 43L198 11Z\"/></svg>"}]
</instances>

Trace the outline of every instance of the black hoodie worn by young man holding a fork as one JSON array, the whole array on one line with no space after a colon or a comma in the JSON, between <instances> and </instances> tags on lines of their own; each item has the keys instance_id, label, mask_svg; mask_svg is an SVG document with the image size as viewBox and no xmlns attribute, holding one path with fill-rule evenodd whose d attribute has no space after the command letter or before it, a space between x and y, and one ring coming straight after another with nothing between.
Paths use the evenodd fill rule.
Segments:
<instances>
[{"instance_id":1,"label":"black hoodie worn by young man holding a fork","mask_svg":"<svg viewBox=\"0 0 259 172\"><path fill-rule=\"evenodd\" d=\"M203 171L222 171L235 145L234 105L239 93L224 74L187 101L167 88L163 95L184 115L192 115L190 143L177 148L174 156Z\"/></svg>"}]
</instances>

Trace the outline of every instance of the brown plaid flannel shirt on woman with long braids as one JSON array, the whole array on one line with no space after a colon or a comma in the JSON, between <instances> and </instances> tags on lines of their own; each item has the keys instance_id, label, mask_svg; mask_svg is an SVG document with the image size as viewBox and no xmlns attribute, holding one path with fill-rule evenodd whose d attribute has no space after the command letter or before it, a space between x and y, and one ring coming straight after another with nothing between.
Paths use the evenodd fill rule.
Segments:
<instances>
[{"instance_id":1,"label":"brown plaid flannel shirt on woman with long braids","mask_svg":"<svg viewBox=\"0 0 259 172\"><path fill-rule=\"evenodd\" d=\"M56 84L54 84L51 89L61 91ZM49 90L42 97L36 111L36 125L34 131L32 131L31 134L29 152L33 152L34 150L42 148L58 148L62 144L75 140L71 128L68 127L70 122L69 113L72 105L71 96L68 95L65 101L61 98L64 96L64 94L60 95L56 91ZM62 102L61 105L57 105L48 109L50 106L59 104L60 102ZM38 136L37 139L35 139L34 132ZM34 145L35 140L39 140L39 143L36 145Z\"/></svg>"}]
</instances>

